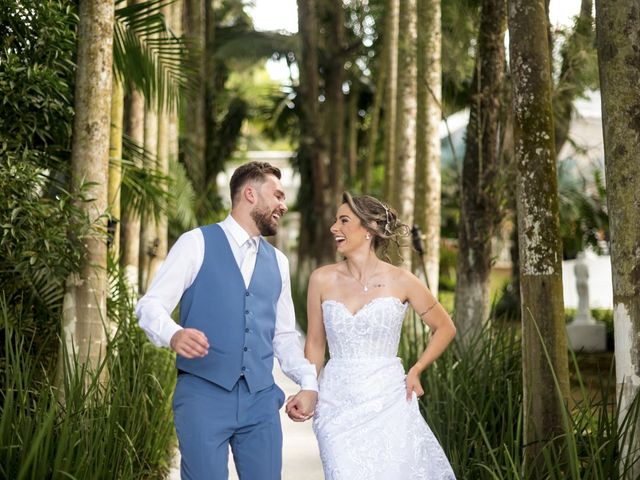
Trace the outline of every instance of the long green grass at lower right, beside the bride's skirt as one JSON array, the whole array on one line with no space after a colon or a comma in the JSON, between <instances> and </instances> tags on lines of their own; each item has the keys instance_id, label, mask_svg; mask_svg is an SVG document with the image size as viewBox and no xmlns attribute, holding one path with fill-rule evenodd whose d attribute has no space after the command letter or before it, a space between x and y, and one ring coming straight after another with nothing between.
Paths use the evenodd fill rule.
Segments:
<instances>
[{"instance_id":1,"label":"long green grass at lower right, beside the bride's skirt","mask_svg":"<svg viewBox=\"0 0 640 480\"><path fill-rule=\"evenodd\" d=\"M407 342L406 338L417 339ZM401 356L415 362L426 337L404 333ZM454 343L422 378L421 409L450 459L457 478L534 478L523 465L521 339L509 324L488 325L469 348ZM640 418L640 397L628 412L616 405L615 376L600 375L588 390L573 359L580 399L566 411L564 433L545 444L544 477L557 480L622 479L620 442Z\"/></svg>"}]
</instances>

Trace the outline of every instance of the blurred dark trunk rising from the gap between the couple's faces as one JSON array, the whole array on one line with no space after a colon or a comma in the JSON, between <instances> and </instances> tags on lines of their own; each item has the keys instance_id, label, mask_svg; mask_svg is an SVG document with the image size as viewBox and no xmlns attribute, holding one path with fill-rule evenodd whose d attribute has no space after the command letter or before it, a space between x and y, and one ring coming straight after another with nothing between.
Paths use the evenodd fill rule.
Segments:
<instances>
[{"instance_id":1,"label":"blurred dark trunk rising from the gap between the couple's faces","mask_svg":"<svg viewBox=\"0 0 640 480\"><path fill-rule=\"evenodd\" d=\"M316 0L298 0L300 37L300 147L298 161L303 182L298 203L311 206L311 215L302 216L300 260L309 254L323 264L333 259L331 242L327 242L326 225L334 212L327 207L325 171L329 165L324 135L318 122L318 17ZM308 207L307 207L308 208ZM313 266L313 265L310 265Z\"/></svg>"}]
</instances>

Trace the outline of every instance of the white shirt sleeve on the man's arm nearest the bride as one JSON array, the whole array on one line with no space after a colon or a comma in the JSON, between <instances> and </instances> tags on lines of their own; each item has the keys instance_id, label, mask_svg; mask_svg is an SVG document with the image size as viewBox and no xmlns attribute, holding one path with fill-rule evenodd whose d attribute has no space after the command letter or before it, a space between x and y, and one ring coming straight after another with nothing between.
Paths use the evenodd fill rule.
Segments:
<instances>
[{"instance_id":1,"label":"white shirt sleeve on the man's arm nearest the bride","mask_svg":"<svg viewBox=\"0 0 640 480\"><path fill-rule=\"evenodd\" d=\"M296 330L296 316L291 298L289 261L276 250L276 258L282 277L282 291L278 299L273 352L286 376L300 385L302 390L318 391L316 367L304 356L302 337Z\"/></svg>"}]
</instances>

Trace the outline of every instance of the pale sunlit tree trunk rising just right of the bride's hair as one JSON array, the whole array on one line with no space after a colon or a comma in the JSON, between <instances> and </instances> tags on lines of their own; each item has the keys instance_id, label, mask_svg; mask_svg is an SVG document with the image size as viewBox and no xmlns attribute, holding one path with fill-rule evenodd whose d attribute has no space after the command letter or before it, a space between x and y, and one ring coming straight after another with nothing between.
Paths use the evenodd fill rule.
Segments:
<instances>
[{"instance_id":1,"label":"pale sunlit tree trunk rising just right of the bride's hair","mask_svg":"<svg viewBox=\"0 0 640 480\"><path fill-rule=\"evenodd\" d=\"M415 224L424 234L426 280L438 295L440 272L440 104L442 28L439 0L418 0L418 116ZM419 265L420 271L422 266Z\"/></svg>"}]
</instances>

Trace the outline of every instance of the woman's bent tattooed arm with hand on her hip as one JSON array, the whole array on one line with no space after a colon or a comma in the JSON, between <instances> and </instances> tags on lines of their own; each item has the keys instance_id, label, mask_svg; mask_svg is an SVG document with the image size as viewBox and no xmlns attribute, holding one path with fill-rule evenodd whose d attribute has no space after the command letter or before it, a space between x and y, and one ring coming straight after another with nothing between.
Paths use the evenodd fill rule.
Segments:
<instances>
[{"instance_id":1,"label":"woman's bent tattooed arm with hand on her hip","mask_svg":"<svg viewBox=\"0 0 640 480\"><path fill-rule=\"evenodd\" d=\"M424 394L420 375L446 350L456 336L456 327L446 310L415 275L406 272L403 280L409 303L431 330L427 348L407 373L407 400L410 400L414 391L418 397Z\"/></svg>"}]
</instances>

